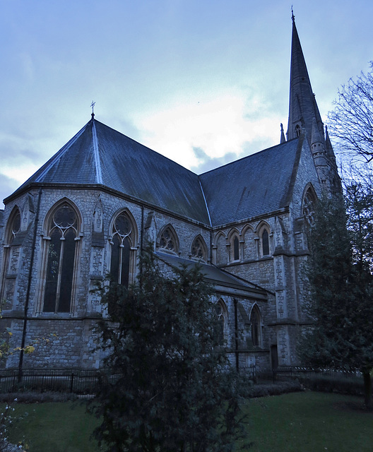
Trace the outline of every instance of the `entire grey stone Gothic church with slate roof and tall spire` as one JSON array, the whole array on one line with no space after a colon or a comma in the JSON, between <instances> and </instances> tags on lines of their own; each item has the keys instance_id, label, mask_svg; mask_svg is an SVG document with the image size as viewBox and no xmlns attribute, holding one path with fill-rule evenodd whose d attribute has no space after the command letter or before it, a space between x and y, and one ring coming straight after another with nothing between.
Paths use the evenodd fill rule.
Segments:
<instances>
[{"instance_id":1,"label":"entire grey stone Gothic church with slate roof and tall spire","mask_svg":"<svg viewBox=\"0 0 373 452\"><path fill-rule=\"evenodd\" d=\"M281 125L278 145L197 175L92 114L4 200L1 331L11 328L11 347L56 333L23 356L25 368L99 368L92 327L105 309L91 290L107 274L134 282L150 239L165 272L201 263L238 369L297 364L309 325L306 225L316 198L338 186L293 17L288 131Z\"/></svg>"}]
</instances>

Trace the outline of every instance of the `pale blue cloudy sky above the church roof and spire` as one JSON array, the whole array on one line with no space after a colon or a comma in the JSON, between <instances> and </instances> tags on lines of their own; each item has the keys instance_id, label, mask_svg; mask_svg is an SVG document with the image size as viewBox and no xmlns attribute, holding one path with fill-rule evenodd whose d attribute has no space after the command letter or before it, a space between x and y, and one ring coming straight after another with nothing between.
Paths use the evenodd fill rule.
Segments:
<instances>
[{"instance_id":1,"label":"pale blue cloudy sky above the church roof and spire","mask_svg":"<svg viewBox=\"0 0 373 452\"><path fill-rule=\"evenodd\" d=\"M0 0L0 200L93 101L95 119L197 174L278 144L292 6L327 123L373 60L372 0Z\"/></svg>"}]
</instances>

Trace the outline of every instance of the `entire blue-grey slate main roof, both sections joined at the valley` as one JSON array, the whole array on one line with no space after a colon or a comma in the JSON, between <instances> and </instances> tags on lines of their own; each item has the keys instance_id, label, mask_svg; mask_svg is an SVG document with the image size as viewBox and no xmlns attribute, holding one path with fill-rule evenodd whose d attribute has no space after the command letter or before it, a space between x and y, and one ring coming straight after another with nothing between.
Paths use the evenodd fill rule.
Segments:
<instances>
[{"instance_id":1,"label":"entire blue-grey slate main roof, both sections joined at the valley","mask_svg":"<svg viewBox=\"0 0 373 452\"><path fill-rule=\"evenodd\" d=\"M100 186L204 225L225 225L288 206L300 140L197 176L91 119L9 198L30 184Z\"/></svg>"}]
</instances>

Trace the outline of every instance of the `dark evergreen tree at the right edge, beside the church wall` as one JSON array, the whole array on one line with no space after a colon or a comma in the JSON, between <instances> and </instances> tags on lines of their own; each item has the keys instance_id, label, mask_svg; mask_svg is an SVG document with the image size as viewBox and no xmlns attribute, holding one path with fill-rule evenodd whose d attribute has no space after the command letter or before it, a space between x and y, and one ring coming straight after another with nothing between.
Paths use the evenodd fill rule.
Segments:
<instances>
[{"instance_id":1,"label":"dark evergreen tree at the right edge, beside the church wall","mask_svg":"<svg viewBox=\"0 0 373 452\"><path fill-rule=\"evenodd\" d=\"M305 272L313 326L300 342L300 355L313 367L361 371L365 405L372 408L373 281L367 261L356 249L361 228L359 232L351 224L358 216L355 209L346 214L342 196L324 196L316 206Z\"/></svg>"}]
</instances>

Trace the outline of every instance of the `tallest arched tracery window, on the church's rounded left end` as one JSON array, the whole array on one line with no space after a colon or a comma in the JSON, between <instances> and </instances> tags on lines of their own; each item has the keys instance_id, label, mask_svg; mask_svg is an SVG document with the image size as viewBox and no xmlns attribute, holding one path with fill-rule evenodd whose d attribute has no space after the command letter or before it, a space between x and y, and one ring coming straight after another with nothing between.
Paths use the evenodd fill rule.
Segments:
<instances>
[{"instance_id":1,"label":"tallest arched tracery window, on the church's rounded left end","mask_svg":"<svg viewBox=\"0 0 373 452\"><path fill-rule=\"evenodd\" d=\"M63 203L48 225L44 312L70 312L78 240L78 215Z\"/></svg>"}]
</instances>

